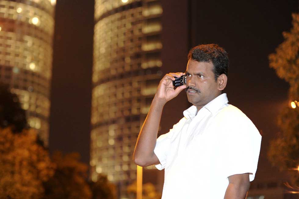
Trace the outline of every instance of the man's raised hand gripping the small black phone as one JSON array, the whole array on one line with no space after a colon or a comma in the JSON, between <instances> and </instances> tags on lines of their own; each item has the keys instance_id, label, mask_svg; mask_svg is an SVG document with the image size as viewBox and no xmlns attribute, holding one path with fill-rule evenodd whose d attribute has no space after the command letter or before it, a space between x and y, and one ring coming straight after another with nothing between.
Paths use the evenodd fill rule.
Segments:
<instances>
[{"instance_id":1,"label":"man's raised hand gripping the small black phone","mask_svg":"<svg viewBox=\"0 0 299 199\"><path fill-rule=\"evenodd\" d=\"M185 75L185 73L166 74L160 81L157 92L155 94L155 98L157 98L161 102L164 102L164 104L169 100L175 98L182 90L187 87L186 85L182 85L174 89L172 81L175 80L175 77L181 77L182 75Z\"/></svg>"}]
</instances>

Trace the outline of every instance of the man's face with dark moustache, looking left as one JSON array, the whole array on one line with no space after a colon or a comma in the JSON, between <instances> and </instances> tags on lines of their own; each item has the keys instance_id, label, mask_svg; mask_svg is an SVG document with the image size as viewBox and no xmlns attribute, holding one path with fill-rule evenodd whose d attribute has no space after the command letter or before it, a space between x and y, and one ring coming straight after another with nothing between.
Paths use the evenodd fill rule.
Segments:
<instances>
[{"instance_id":1,"label":"man's face with dark moustache, looking left","mask_svg":"<svg viewBox=\"0 0 299 199\"><path fill-rule=\"evenodd\" d=\"M196 107L204 106L218 95L218 80L215 81L213 64L189 59L186 69L188 101ZM199 110L199 109L198 109Z\"/></svg>"}]
</instances>

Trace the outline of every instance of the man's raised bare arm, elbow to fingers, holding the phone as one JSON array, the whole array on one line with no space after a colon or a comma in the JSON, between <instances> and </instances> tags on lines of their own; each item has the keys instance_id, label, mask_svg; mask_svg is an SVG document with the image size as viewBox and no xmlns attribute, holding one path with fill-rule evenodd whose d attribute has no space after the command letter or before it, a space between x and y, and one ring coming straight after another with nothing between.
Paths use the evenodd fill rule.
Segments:
<instances>
[{"instance_id":1,"label":"man's raised bare arm, elbow to fingers, holding the phone","mask_svg":"<svg viewBox=\"0 0 299 199\"><path fill-rule=\"evenodd\" d=\"M159 159L154 154L154 148L156 146L162 110L166 102L175 98L186 88L186 85L182 85L174 89L174 86L172 85L172 81L175 80L175 77L181 77L183 74L184 73L169 73L160 81L150 106L149 113L147 114L137 138L133 154L135 164L139 166L159 164Z\"/></svg>"}]
</instances>

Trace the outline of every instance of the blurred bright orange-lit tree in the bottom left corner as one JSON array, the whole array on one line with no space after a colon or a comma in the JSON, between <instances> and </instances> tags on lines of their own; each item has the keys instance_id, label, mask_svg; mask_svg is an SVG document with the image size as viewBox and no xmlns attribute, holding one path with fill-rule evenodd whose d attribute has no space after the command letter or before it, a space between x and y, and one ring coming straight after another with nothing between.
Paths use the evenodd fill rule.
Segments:
<instances>
[{"instance_id":1,"label":"blurred bright orange-lit tree in the bottom left corner","mask_svg":"<svg viewBox=\"0 0 299 199\"><path fill-rule=\"evenodd\" d=\"M42 182L54 174L49 154L36 143L34 130L0 128L0 198L39 199Z\"/></svg>"}]
</instances>

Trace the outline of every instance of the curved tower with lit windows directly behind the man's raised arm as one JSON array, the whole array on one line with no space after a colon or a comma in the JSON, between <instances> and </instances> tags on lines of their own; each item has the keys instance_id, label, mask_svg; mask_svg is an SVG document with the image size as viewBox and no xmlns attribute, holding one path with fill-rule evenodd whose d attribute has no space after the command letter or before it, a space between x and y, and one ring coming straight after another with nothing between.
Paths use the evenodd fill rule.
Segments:
<instances>
[{"instance_id":1,"label":"curved tower with lit windows directly behind the man's raised arm","mask_svg":"<svg viewBox=\"0 0 299 199\"><path fill-rule=\"evenodd\" d=\"M91 178L103 173L119 195L136 179L140 127L160 82L160 0L95 0Z\"/></svg>"}]
</instances>

